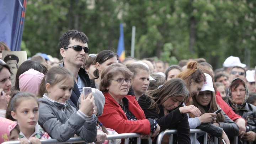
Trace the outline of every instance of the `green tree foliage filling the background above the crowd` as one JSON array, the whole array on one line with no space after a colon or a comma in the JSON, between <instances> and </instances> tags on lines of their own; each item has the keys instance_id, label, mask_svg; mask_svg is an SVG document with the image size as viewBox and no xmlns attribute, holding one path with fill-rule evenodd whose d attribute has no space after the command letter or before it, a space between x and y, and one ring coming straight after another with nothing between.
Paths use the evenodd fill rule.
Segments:
<instances>
[{"instance_id":1,"label":"green tree foliage filling the background above the crowd","mask_svg":"<svg viewBox=\"0 0 256 144\"><path fill-rule=\"evenodd\" d=\"M254 61L255 0L28 0L22 40L31 54L60 58L58 39L67 30L84 32L91 53L116 52L123 22L126 55L136 26L135 57L170 64L203 57L214 68L230 55ZM176 60L177 59L177 60Z\"/></svg>"}]
</instances>

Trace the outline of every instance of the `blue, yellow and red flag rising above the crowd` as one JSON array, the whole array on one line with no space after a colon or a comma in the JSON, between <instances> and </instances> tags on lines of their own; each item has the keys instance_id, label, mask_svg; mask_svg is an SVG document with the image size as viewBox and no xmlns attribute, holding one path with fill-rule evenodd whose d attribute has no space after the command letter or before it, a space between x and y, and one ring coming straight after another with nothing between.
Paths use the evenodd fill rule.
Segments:
<instances>
[{"instance_id":1,"label":"blue, yellow and red flag rising above the crowd","mask_svg":"<svg viewBox=\"0 0 256 144\"><path fill-rule=\"evenodd\" d=\"M118 41L117 54L120 62L122 62L125 59L123 23L120 23L120 36Z\"/></svg>"}]
</instances>

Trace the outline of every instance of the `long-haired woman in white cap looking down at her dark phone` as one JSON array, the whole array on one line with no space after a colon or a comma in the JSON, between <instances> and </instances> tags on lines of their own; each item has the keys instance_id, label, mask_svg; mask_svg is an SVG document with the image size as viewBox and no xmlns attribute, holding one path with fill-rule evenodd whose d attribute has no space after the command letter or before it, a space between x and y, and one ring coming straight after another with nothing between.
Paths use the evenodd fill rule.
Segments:
<instances>
[{"instance_id":1,"label":"long-haired woman in white cap looking down at her dark phone","mask_svg":"<svg viewBox=\"0 0 256 144\"><path fill-rule=\"evenodd\" d=\"M204 83L202 89L198 95L192 97L192 104L196 106L202 114L212 113L219 109L219 106L216 102L215 90L213 87L213 78L207 73L204 73L206 76L206 82ZM235 137L239 133L238 125L232 121L223 111L217 115L216 122L213 123L215 126L218 126L223 129L223 133L226 135ZM229 143L229 140L226 137L223 137L226 143ZM199 142L203 141L203 136L198 138ZM214 142L214 137L210 135L208 143Z\"/></svg>"}]
</instances>

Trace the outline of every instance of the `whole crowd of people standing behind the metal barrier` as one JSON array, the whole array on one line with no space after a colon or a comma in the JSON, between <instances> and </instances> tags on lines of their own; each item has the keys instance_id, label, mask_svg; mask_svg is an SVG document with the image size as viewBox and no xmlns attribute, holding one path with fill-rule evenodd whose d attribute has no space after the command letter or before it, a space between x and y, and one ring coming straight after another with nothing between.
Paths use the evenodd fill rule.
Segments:
<instances>
[{"instance_id":1,"label":"whole crowd of people standing behind the metal barrier","mask_svg":"<svg viewBox=\"0 0 256 144\"><path fill-rule=\"evenodd\" d=\"M111 144L107 135L139 133L142 143L151 137L155 144L159 133L177 129L173 143L192 144L195 128L208 133L208 144L214 137L234 143L236 136L239 144L256 143L255 70L246 71L238 57L216 70L203 58L171 66L153 58L120 62L111 50L89 54L88 42L83 32L65 32L62 60L34 55L18 67L14 81L8 63L0 61L0 143L81 137ZM10 50L3 42L0 49ZM83 87L92 92L84 96ZM196 143L203 141L198 133ZM169 143L169 136L161 143Z\"/></svg>"}]
</instances>

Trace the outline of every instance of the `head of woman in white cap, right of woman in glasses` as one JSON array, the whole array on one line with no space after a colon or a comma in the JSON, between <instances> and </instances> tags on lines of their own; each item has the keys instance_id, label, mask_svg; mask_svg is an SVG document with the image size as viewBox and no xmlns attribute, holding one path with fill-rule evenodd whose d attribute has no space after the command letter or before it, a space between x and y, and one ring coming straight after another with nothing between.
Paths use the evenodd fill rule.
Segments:
<instances>
[{"instance_id":1,"label":"head of woman in white cap, right of woman in glasses","mask_svg":"<svg viewBox=\"0 0 256 144\"><path fill-rule=\"evenodd\" d=\"M150 76L149 66L143 62L134 62L127 66L127 68L133 73L130 85L132 85L138 100L148 90L149 81L154 79Z\"/></svg>"}]
</instances>

